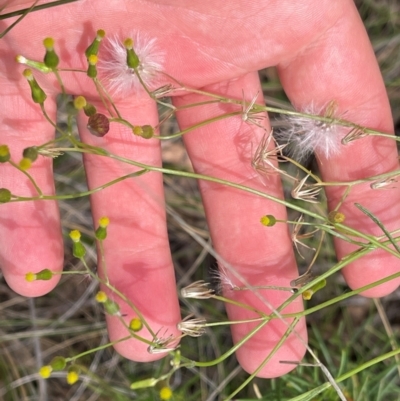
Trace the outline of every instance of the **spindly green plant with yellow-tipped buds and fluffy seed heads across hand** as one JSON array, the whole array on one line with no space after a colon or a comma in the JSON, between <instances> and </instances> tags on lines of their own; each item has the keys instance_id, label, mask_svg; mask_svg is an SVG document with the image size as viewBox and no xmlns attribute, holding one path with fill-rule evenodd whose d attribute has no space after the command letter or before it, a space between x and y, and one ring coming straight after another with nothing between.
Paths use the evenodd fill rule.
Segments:
<instances>
[{"instance_id":1,"label":"spindly green plant with yellow-tipped buds and fluffy seed heads across hand","mask_svg":"<svg viewBox=\"0 0 400 401\"><path fill-rule=\"evenodd\" d=\"M336 115L334 100L322 107L310 105L309 108L299 112L258 105L255 103L256 97L251 101L244 101L243 99L227 98L218 94L189 88L185 86L184 83L180 83L163 73L164 54L157 48L157 43L152 38L147 38L138 33L134 33L128 38L112 37L107 39L106 33L101 29L97 31L96 37L93 38L91 45L86 49L86 67L84 69L74 69L74 72L86 75L96 89L98 97L102 101L106 110L105 113L99 113L94 105L90 104L87 99L79 94L77 94L73 99L67 98L63 85L63 76L64 74L68 74L68 71L61 67L62 59L60 59L57 53L57 43L55 43L52 38L45 38L43 44L45 48L44 59L29 60L23 55L16 55L16 61L26 67L23 71L23 75L27 80L27 91L31 91L32 102L41 109L43 118L54 127L57 132L57 137L50 142L38 143L35 146L26 148L22 155L10 154L7 143L1 144L0 162L3 164L10 164L20 171L21 174L25 175L31 181L37 192L34 196L26 196L24 194L12 193L8 188L1 188L1 203L46 201L50 199L78 199L99 192L102 189L123 180L134 180L137 176L154 171L162 173L166 177L178 176L211 181L235 188L238 191L245 191L254 196L259 196L285 205L290 212L289 215L294 216L291 220L280 221L275 216L268 213L268 210L260 210L259 224L263 225L265 230L271 229L271 227L276 224L289 224L291 226L293 246L298 252L299 258L304 260L304 273L292 282L288 282L286 286L274 286L269 283L265 286L261 285L256 287L250 285L244 277L229 265L229 263L223 260L221 255L215 252L210 244L198 235L195 230L190 230L189 226L182 220L181 216L174 209L170 207L167 208L170 217L178 222L182 228L187 230L187 232L189 232L208 253L215 257L220 265L219 271L214 274L218 281L217 287L212 286L211 283L204 280L196 280L184 288L181 288L181 300L191 313L188 313L187 316L178 324L178 329L181 332L179 338L169 335L168 332L153 329L146 321L141 310L129 300L127 294L122 293L108 279L108 266L104 263L103 244L104 241L107 241L107 227L112 225L113 222L109 221L107 216L102 217L98 222L96 222L97 225L93 232L93 237L97 243L100 257L103 258L103 271L101 276L99 276L87 263L87 245L82 241L82 233L78 229L71 229L69 232L69 238L72 254L80 261L80 269L56 273L44 266L42 270L32 271L26 275L26 280L30 282L31 285L35 285L35 282L38 280L49 280L54 274L81 275L83 277L89 277L91 280L101 284L102 286L94 295L95 301L103 305L104 313L117 317L126 328L126 336L119 339L117 342L123 342L134 338L147 344L149 353L164 352L169 354L169 366L164 365L162 371L158 371L156 375L148 378L141 378L140 380L133 379L130 386L127 386L130 387L130 389L126 388L124 391L129 390L135 392L135 394L140 394L140 391L144 391L143 389L147 388L156 391L159 399L180 399L184 392L183 390L180 392L181 390L179 387L174 387L174 377L178 371L188 368L197 372L197 369L199 368L207 368L216 364L223 364L238 347L247 342L268 322L272 319L280 319L287 327L281 341L279 341L271 353L266 356L264 362L260 365L259 369L254 372L254 374L249 375L242 384L232 390L230 394L225 394L224 399L232 399L237 393L251 383L257 372L268 363L290 334L294 333L299 336L296 331L296 324L301 317L316 313L330 305L338 304L339 302L353 297L367 289L400 276L400 273L394 274L358 290L341 293L313 306L312 308L306 308L305 311L302 312L292 314L285 314L283 312L285 307L298 297L301 297L306 301L311 300L317 291L323 291L327 282L329 283L329 280L335 273L354 260L368 254L373 249L379 248L396 257L400 257L400 249L397 244L397 232L389 232L381 223L379 216L375 216L361 204L356 205L361 212L368 216L382 229L381 236L373 236L348 227L346 225L346 216L341 212L340 208L344 199L351 193L352 188L355 186L367 182L370 184L371 191L382 190L396 184L400 171L372 176L363 180L355 180L345 183L329 183L324 182L317 174L302 164L302 160L314 151L324 154L326 158L329 158L340 152L342 146L346 146L348 143L356 140L361 140L361 138L367 135L385 136L396 140L395 137L388 136L387 134L376 130L368 129L367 127L361 127L340 118L340 116ZM101 47L103 47L104 52L100 51ZM104 59L102 59L103 54L107 55ZM56 76L60 85L60 92L67 102L65 126L53 121L46 112L47 95L36 80L38 74L54 74ZM165 82L168 82L168 84L165 84ZM139 90L147 92L148 96L164 107L165 114L161 116L161 122L158 126L152 126L150 124L132 124L121 114L113 101L113 96L120 96L127 92ZM163 124L167 123L168 120L180 110L179 107L171 106L165 99L165 97L178 90L186 91L188 93L202 93L209 98L209 102L230 103L235 107L235 109L229 113L213 117L209 121L193 125L184 131L178 130L168 135L157 134L158 132L162 132ZM195 104L192 106L185 106L185 108L187 107L201 106ZM284 181L291 186L291 199L278 199L269 195L267 192L256 190L235 182L222 180L213 176L147 165L133 159L120 157L117 154L110 153L106 149L89 146L81 142L74 130L75 116L78 113L84 113L87 117L87 127L95 136L102 137L107 135L110 129L110 124L123 124L132 131L132 135L137 135L144 139L152 138L153 140L168 141L174 138L179 138L204 124L212 124L214 121L234 116L241 117L243 122L247 124L261 126L259 124L259 119L262 118L262 113L265 112L277 113L283 116L282 118L287 124L287 129L280 131L277 135L274 132L266 131L262 141L254 149L251 165L260 174L261 178L268 178L271 174L281 175ZM271 146L272 144L275 146ZM297 153L293 151L287 153L286 148L293 145L295 145L294 147L296 149L300 150L297 151ZM40 186L30 175L30 167L39 157L57 158L65 153L90 154L101 158L108 157L121 163L135 166L139 168L139 170L135 173L121 176L101 187L91 190L76 191L66 195L49 195L43 193ZM317 206L319 203L324 201L322 197L322 189L330 185L341 185L344 187L344 191L343 196L338 201L336 207L334 207L333 211L327 215L321 212L321 208L314 206ZM358 249L343 258L340 262L333 264L326 271L316 273L314 272L314 266L318 256L326 241L332 237L337 237L355 244ZM242 284L240 286L234 284L230 277L237 278L238 280L235 282L240 282ZM285 291L288 293L288 297L281 305L274 308L269 303L268 299L258 292L259 289ZM253 291L256 296L262 300L263 304L272 310L272 312L266 314L263 311L255 309L252 305L240 304L237 301L234 301L230 298L229 294L232 294L235 291ZM193 303L191 303L188 301L190 299L200 299L203 301L193 301ZM121 308L119 302L121 302L121 300L129 305L135 315L135 317L130 321L126 321L120 311ZM177 346L177 340L182 340L181 343L184 344L186 340L185 337L199 337L199 341L201 341L204 336L210 335L213 328L216 329L219 326L243 323L243 321L230 321L222 317L217 321L207 321L201 313L197 313L199 307L196 302L201 302L203 305L210 301L232 303L236 307L252 310L258 315L258 317L252 319L251 322L257 322L257 326L249 332L248 335L241 339L239 343L235 344L234 347L230 348L217 358L210 358L206 361L204 361L203 358L194 360L184 354L183 345L181 348ZM141 335L141 330L144 327L149 333L151 333L151 340L148 340ZM80 381L86 381L90 382L91 385L95 387L101 383L100 378L93 374L90 369L81 362L81 360L86 359L86 357L92 353L94 354L97 351L106 349L112 345L115 345L115 342L105 343L100 347L89 349L70 357L55 355L52 359L49 358L49 362L45 363L40 368L37 377L49 378L52 377L52 375L54 376L57 372L63 372L63 377L66 378L67 383L70 385L74 385ZM308 345L306 346L313 360L313 365L316 368L319 368L322 372L322 384L314 387L309 392L299 391L298 396L292 399L317 399L316 397L323 392L329 394L328 392L331 391L330 389L333 389L333 395L331 394L329 397L333 398L329 399L348 399L348 385L343 385L343 381L355 375L359 370L357 370L357 372L356 370L350 370L348 372L341 371L340 374L334 375L320 361L317 352L315 352L312 347ZM361 365L360 369L367 369L367 367L380 361L387 360L397 355L399 352L399 349L395 348L393 351L382 355L376 360L366 361ZM301 361L282 361L282 363L293 363L300 366L302 364ZM121 394L124 391L121 390ZM321 396L324 397L323 394Z\"/></svg>"}]
</instances>

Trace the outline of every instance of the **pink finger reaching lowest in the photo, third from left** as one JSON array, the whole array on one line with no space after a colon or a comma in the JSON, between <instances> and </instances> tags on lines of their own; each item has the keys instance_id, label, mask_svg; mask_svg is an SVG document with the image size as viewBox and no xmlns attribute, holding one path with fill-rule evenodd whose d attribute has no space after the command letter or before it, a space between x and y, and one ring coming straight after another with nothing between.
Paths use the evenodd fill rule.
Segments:
<instances>
[{"instance_id":1,"label":"pink finger reaching lowest in the photo, third from left","mask_svg":"<svg viewBox=\"0 0 400 401\"><path fill-rule=\"evenodd\" d=\"M257 102L263 102L257 73L250 73L237 80L203 89L237 99L242 98L244 93L246 100L258 94ZM181 106L202 100L205 100L203 96L193 94L175 98L174 102L176 106ZM237 105L218 103L196 107L193 111L190 109L179 111L177 117L181 129L184 129L208 118L238 109L240 110L240 107ZM279 175L269 176L265 186L259 175L251 168L252 151L265 133L270 131L267 116L263 115L261 124L262 128L248 125L242 121L241 116L236 116L197 128L185 135L185 144L196 172L243 184L282 198ZM276 218L285 220L285 207L244 191L208 181L200 181L199 186L213 245L225 261L225 264L220 263L220 268L223 268L228 275L225 281L231 280L234 285L240 287L249 284L288 286L298 273L287 227L277 224L266 229L260 224L260 218L264 214L273 214ZM229 266L233 267L235 274ZM236 274L243 279L240 280ZM270 313L271 306L276 308L281 305L290 293L276 290L230 291L229 286L225 286L225 295ZM297 299L282 312L298 312L301 309L302 303ZM258 317L257 313L229 304L227 311L231 320ZM237 358L245 370L254 372L282 338L289 322L290 320L269 322L237 351ZM234 342L240 341L256 326L257 323L232 325ZM297 325L296 330L306 341L304 320ZM275 377L286 373L292 367L279 361L297 361L302 358L304 351L304 344L292 333L258 375Z\"/></svg>"}]
</instances>

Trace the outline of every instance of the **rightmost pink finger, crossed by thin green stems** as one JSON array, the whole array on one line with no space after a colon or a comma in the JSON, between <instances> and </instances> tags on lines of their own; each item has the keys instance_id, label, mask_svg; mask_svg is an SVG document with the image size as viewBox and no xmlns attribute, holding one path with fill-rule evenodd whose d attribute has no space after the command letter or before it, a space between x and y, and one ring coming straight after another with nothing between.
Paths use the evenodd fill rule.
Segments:
<instances>
[{"instance_id":1,"label":"rightmost pink finger, crossed by thin green stems","mask_svg":"<svg viewBox=\"0 0 400 401\"><path fill-rule=\"evenodd\" d=\"M311 104L322 107L331 100L338 104L338 116L384 132L393 132L390 107L373 50L352 1L343 8L335 26L319 36L293 60L279 66L282 84L298 109ZM348 132L348 130L347 130ZM341 136L344 136L342 133ZM340 139L339 139L340 140ZM393 140L366 137L340 146L338 154L327 158L317 154L325 181L352 181L398 169L397 149ZM358 210L358 202L374 213L391 231L398 228L400 188L375 191L370 183L351 190L340 207L345 223L364 233L383 235L373 221ZM344 187L329 187L331 209L344 193ZM335 240L339 259L357 247ZM398 272L400 261L387 252L375 250L347 266L343 273L352 288L370 284ZM399 280L375 287L366 296L383 296L393 291Z\"/></svg>"}]
</instances>

